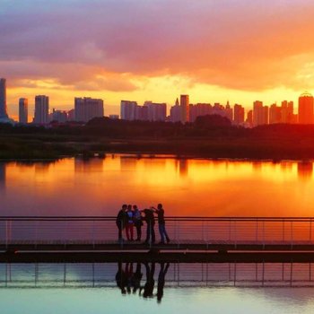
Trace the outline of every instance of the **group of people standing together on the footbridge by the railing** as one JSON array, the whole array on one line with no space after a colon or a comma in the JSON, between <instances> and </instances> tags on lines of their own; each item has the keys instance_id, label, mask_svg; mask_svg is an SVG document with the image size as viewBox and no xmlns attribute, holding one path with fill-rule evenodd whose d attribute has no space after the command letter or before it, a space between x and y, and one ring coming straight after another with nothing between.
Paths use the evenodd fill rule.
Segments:
<instances>
[{"instance_id":1,"label":"group of people standing together on the footbridge by the railing","mask_svg":"<svg viewBox=\"0 0 314 314\"><path fill-rule=\"evenodd\" d=\"M144 215L142 215L144 214ZM157 205L157 208L150 207L143 210L139 210L137 205L122 205L119 210L116 224L118 227L118 240L123 241L122 233L126 230L126 239L129 241L140 241L142 239L142 226L143 222L146 222L146 239L145 244L155 243L155 215L157 214L158 229L161 235L160 244L166 244L170 242L170 238L166 231L166 223L164 219L164 209L161 204ZM135 227L135 228L134 228ZM134 238L134 229L136 229L136 239Z\"/></svg>"}]
</instances>

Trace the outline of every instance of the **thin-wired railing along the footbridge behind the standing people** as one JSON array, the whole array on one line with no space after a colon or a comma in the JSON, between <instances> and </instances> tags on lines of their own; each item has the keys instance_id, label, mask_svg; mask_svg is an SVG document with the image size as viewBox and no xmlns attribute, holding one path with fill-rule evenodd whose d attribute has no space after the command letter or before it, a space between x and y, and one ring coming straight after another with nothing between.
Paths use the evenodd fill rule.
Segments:
<instances>
[{"instance_id":1,"label":"thin-wired railing along the footbridge behind the standing people","mask_svg":"<svg viewBox=\"0 0 314 314\"><path fill-rule=\"evenodd\" d=\"M190 241L238 244L254 242L314 242L312 217L168 217L166 229L173 243ZM159 241L158 222L154 230ZM146 223L142 227L145 239ZM125 231L123 231L126 239ZM136 231L134 228L134 238ZM0 217L0 242L14 244L75 241L97 244L118 240L116 218L107 217Z\"/></svg>"}]
</instances>

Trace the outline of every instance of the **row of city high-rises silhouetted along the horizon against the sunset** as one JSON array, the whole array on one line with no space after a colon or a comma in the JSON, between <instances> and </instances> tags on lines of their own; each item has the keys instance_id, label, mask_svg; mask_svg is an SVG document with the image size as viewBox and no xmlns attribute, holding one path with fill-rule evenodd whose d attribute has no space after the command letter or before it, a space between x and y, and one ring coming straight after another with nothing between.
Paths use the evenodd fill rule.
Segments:
<instances>
[{"instance_id":1,"label":"row of city high-rises silhouetted along the horizon against the sunset","mask_svg":"<svg viewBox=\"0 0 314 314\"><path fill-rule=\"evenodd\" d=\"M0 78L0 109L6 113L6 79ZM46 95L35 96L34 117L30 121L28 115L28 99L19 99L19 122L33 122L35 124L48 124L50 121L64 123L66 121L88 122L92 118L104 117L104 102L101 99L91 97L74 97L74 108L62 110L53 106L49 108L49 97ZM275 123L288 124L313 124L314 123L314 99L310 92L303 92L298 100L297 113L294 111L293 101L282 100L281 105L273 103L264 104L261 100L255 100L251 109L245 109L239 103L232 106L228 100L226 105L219 102L190 103L188 94L181 94L167 109L166 102L145 101L143 106L135 100L121 100L120 113L112 114L109 118L122 118L126 120L143 121L170 121L170 122L195 122L197 117L205 115L219 115L229 118L236 126L260 126ZM9 119L8 115L4 115ZM31 118L31 117L30 117ZM13 122L13 120L11 119Z\"/></svg>"}]
</instances>

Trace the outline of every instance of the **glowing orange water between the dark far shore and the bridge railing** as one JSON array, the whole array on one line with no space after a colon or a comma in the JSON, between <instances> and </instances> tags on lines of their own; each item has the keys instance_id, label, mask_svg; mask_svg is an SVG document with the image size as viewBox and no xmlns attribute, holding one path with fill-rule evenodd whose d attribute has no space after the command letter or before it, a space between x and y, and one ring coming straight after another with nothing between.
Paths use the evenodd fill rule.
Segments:
<instances>
[{"instance_id":1,"label":"glowing orange water between the dark far shore and the bridge railing","mask_svg":"<svg viewBox=\"0 0 314 314\"><path fill-rule=\"evenodd\" d=\"M111 215L162 203L170 215L313 216L312 162L126 155L0 164L3 215Z\"/></svg>"}]
</instances>

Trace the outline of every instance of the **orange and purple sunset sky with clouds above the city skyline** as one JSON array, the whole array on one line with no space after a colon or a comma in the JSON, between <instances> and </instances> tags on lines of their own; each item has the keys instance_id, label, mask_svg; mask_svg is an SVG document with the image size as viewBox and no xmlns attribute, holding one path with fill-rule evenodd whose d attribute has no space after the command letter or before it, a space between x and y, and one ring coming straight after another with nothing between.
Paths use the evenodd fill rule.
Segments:
<instances>
[{"instance_id":1,"label":"orange and purple sunset sky with clouds above the city skyline","mask_svg":"<svg viewBox=\"0 0 314 314\"><path fill-rule=\"evenodd\" d=\"M313 34L312 0L0 0L0 77L12 116L36 94L249 108L314 91Z\"/></svg>"}]
</instances>

